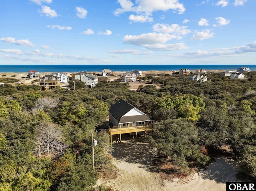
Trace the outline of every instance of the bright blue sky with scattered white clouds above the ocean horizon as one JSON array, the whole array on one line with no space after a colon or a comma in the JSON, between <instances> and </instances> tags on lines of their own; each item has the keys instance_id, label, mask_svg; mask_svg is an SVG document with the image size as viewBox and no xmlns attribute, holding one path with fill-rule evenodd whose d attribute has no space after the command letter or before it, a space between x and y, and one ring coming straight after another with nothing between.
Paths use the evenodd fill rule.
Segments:
<instances>
[{"instance_id":1,"label":"bright blue sky with scattered white clouds above the ocean horizon","mask_svg":"<svg viewBox=\"0 0 256 191\"><path fill-rule=\"evenodd\" d=\"M0 64L256 64L255 0L1 0Z\"/></svg>"}]
</instances>

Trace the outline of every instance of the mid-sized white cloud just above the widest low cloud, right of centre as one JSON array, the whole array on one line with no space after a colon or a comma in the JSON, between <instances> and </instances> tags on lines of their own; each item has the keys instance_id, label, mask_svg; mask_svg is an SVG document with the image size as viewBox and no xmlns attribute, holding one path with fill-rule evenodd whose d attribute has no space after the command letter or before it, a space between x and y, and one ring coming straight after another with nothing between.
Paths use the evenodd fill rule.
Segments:
<instances>
[{"instance_id":1,"label":"mid-sized white cloud just above the widest low cloud, right of centre","mask_svg":"<svg viewBox=\"0 0 256 191\"><path fill-rule=\"evenodd\" d=\"M156 32L162 32L162 33L173 33L177 35L186 35L190 33L191 31L187 29L187 26L179 26L178 24L154 24L153 30Z\"/></svg>"}]
</instances>

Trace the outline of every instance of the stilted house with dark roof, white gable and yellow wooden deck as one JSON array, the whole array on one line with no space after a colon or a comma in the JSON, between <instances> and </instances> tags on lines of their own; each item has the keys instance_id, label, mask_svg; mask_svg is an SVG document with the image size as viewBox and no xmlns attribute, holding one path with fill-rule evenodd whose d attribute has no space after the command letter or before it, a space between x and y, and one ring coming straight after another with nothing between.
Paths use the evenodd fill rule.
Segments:
<instances>
[{"instance_id":1,"label":"stilted house with dark roof, white gable and yellow wooden deck","mask_svg":"<svg viewBox=\"0 0 256 191\"><path fill-rule=\"evenodd\" d=\"M121 141L122 134L137 136L137 134L151 130L153 121L147 114L120 99L109 108L108 133L111 144L112 136L117 136Z\"/></svg>"}]
</instances>

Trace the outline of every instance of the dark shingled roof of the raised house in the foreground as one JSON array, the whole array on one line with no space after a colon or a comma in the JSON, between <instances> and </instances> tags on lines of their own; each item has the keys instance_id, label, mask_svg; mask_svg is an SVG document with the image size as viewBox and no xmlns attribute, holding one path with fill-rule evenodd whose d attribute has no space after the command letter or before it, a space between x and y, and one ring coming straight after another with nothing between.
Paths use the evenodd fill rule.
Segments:
<instances>
[{"instance_id":1,"label":"dark shingled roof of the raised house in the foreground","mask_svg":"<svg viewBox=\"0 0 256 191\"><path fill-rule=\"evenodd\" d=\"M123 117L126 113L128 113L133 108L136 108L136 107L134 107L131 104L129 104L128 102L120 99L114 105L110 106L109 112L118 121L118 123L141 122L141 121L150 120L149 116L146 114Z\"/></svg>"}]
</instances>

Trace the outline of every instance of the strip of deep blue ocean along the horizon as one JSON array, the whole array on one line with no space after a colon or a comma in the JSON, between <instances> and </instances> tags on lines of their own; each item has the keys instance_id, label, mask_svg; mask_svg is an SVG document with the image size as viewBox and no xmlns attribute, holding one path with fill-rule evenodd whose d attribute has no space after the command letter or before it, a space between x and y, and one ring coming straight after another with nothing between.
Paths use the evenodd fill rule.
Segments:
<instances>
[{"instance_id":1,"label":"strip of deep blue ocean along the horizon","mask_svg":"<svg viewBox=\"0 0 256 191\"><path fill-rule=\"evenodd\" d=\"M0 65L0 72L28 72L35 70L39 72L100 72L103 69L112 71L171 71L180 69L206 69L206 70L236 70L239 67L249 67L256 70L256 65Z\"/></svg>"}]
</instances>

